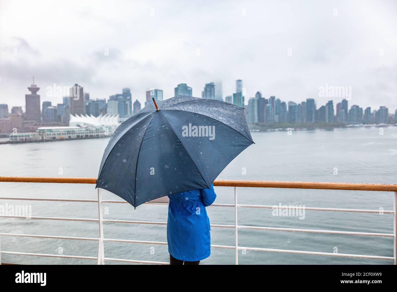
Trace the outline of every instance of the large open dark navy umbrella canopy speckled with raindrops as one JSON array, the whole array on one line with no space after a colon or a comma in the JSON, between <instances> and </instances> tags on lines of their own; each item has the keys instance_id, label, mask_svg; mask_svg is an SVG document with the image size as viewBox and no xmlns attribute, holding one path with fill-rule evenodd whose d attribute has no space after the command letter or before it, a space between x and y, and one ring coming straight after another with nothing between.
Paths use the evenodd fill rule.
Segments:
<instances>
[{"instance_id":1,"label":"large open dark navy umbrella canopy speckled with raindrops","mask_svg":"<svg viewBox=\"0 0 397 292\"><path fill-rule=\"evenodd\" d=\"M134 207L182 191L209 188L254 143L244 109L178 95L145 106L114 131L96 188Z\"/></svg>"}]
</instances>

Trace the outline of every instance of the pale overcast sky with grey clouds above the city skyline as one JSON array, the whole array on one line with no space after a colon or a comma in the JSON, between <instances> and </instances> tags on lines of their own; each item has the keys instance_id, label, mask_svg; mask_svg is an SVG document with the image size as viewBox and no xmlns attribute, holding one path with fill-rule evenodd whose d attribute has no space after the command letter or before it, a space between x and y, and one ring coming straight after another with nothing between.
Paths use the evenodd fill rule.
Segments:
<instances>
[{"instance_id":1,"label":"pale overcast sky with grey clouds above the city skyline","mask_svg":"<svg viewBox=\"0 0 397 292\"><path fill-rule=\"evenodd\" d=\"M0 103L25 106L35 76L46 87L79 83L91 99L130 87L187 83L201 97L242 79L246 103L268 98L317 107L319 86L351 86L349 107L397 107L396 1L2 1ZM106 55L108 50L108 55Z\"/></svg>"}]
</instances>

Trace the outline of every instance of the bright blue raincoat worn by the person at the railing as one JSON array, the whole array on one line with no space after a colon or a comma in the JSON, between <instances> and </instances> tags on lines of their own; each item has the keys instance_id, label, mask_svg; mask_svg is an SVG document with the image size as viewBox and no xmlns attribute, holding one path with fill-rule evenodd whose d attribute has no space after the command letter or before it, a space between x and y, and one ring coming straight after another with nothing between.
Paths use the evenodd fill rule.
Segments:
<instances>
[{"instance_id":1,"label":"bright blue raincoat worn by the person at the railing","mask_svg":"<svg viewBox=\"0 0 397 292\"><path fill-rule=\"evenodd\" d=\"M200 261L210 256L210 219L205 207L214 203L214 186L168 196L168 252L181 261Z\"/></svg>"}]
</instances>

